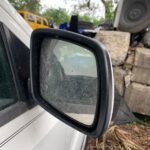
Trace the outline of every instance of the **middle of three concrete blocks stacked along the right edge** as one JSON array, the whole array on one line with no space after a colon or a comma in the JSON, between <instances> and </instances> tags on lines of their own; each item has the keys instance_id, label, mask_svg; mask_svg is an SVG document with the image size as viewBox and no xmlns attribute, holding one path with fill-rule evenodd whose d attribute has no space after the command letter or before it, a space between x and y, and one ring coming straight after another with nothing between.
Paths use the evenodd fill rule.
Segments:
<instances>
[{"instance_id":1,"label":"middle of three concrete blocks stacked along the right edge","mask_svg":"<svg viewBox=\"0 0 150 150\"><path fill-rule=\"evenodd\" d=\"M137 83L150 85L150 69L134 67L131 80Z\"/></svg>"}]
</instances>

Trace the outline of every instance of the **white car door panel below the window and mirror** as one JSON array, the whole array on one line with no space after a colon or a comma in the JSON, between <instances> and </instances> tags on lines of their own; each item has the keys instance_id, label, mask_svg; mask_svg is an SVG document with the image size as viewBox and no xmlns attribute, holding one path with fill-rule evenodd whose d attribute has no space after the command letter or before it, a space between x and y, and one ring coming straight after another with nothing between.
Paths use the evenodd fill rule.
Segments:
<instances>
[{"instance_id":1,"label":"white car door panel below the window and mirror","mask_svg":"<svg viewBox=\"0 0 150 150\"><path fill-rule=\"evenodd\" d=\"M2 126L0 137L1 150L80 150L86 138L40 106Z\"/></svg>"}]
</instances>

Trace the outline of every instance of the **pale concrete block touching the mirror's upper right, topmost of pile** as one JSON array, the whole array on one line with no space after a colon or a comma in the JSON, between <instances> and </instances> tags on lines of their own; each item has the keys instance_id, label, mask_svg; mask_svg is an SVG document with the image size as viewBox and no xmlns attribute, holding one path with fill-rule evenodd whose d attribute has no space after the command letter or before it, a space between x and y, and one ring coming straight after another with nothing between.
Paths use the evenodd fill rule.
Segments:
<instances>
[{"instance_id":1,"label":"pale concrete block touching the mirror's upper right, topmost of pile","mask_svg":"<svg viewBox=\"0 0 150 150\"><path fill-rule=\"evenodd\" d=\"M130 45L130 33L100 31L95 38L107 48L114 66L124 63Z\"/></svg>"}]
</instances>

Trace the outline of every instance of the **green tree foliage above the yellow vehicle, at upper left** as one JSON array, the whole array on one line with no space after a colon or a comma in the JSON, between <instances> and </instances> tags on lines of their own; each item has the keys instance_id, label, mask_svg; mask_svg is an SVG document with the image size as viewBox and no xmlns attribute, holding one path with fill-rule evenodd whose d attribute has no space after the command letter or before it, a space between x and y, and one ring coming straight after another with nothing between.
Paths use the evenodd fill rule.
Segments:
<instances>
[{"instance_id":1,"label":"green tree foliage above the yellow vehicle, at upper left","mask_svg":"<svg viewBox=\"0 0 150 150\"><path fill-rule=\"evenodd\" d=\"M36 14L39 14L41 10L40 0L9 0L9 2L17 10L27 10Z\"/></svg>"}]
</instances>

